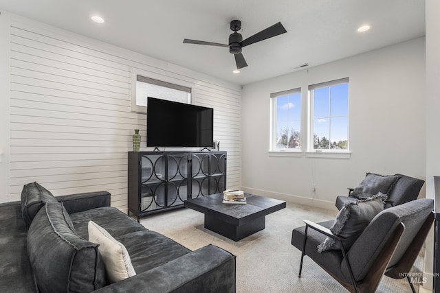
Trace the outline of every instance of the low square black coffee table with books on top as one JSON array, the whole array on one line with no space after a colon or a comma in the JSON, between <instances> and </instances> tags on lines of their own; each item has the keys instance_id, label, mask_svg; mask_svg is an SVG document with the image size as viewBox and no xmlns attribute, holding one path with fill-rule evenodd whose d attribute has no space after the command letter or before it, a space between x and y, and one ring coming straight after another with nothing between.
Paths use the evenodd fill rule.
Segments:
<instances>
[{"instance_id":1,"label":"low square black coffee table with books on top","mask_svg":"<svg viewBox=\"0 0 440 293\"><path fill-rule=\"evenodd\" d=\"M188 198L185 207L205 214L205 228L239 241L265 228L265 215L286 207L274 198L245 194L246 204L223 204L223 194Z\"/></svg>"}]
</instances>

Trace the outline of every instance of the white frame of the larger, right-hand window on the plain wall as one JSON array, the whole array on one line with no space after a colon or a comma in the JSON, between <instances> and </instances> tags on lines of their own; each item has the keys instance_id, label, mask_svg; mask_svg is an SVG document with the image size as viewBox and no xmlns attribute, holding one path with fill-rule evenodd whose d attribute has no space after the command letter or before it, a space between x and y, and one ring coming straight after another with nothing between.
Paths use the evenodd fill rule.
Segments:
<instances>
[{"instance_id":1,"label":"white frame of the larger, right-hand window on the plain wall","mask_svg":"<svg viewBox=\"0 0 440 293\"><path fill-rule=\"evenodd\" d=\"M340 84L348 84L347 96L347 149L314 149L314 90L325 87L336 86ZM349 78L340 78L338 80L331 80L328 82L320 82L318 84L311 84L308 86L308 121L307 121L307 154L320 153L336 153L336 154L350 154L350 83ZM331 119L331 117L329 117ZM312 155L313 156L313 155Z\"/></svg>"}]
</instances>

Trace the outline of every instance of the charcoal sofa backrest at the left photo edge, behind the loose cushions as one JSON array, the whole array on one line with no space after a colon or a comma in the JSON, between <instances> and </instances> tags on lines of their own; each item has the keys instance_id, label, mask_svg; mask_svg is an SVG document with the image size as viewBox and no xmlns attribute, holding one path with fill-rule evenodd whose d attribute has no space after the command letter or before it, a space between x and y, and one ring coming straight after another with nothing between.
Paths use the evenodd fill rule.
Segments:
<instances>
[{"instance_id":1,"label":"charcoal sofa backrest at the left photo edge, behind the loose cushions","mask_svg":"<svg viewBox=\"0 0 440 293\"><path fill-rule=\"evenodd\" d=\"M36 292L20 202L0 204L0 292Z\"/></svg>"}]
</instances>

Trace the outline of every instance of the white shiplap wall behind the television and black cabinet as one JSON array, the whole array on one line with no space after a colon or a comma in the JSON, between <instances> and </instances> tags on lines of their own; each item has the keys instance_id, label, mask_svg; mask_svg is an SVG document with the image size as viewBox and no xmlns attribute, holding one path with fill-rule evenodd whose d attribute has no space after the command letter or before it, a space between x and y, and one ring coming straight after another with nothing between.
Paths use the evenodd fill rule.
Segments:
<instances>
[{"instance_id":1,"label":"white shiplap wall behind the television and black cabinet","mask_svg":"<svg viewBox=\"0 0 440 293\"><path fill-rule=\"evenodd\" d=\"M37 181L55 196L107 190L126 211L133 129L146 135L146 115L130 108L133 69L195 84L228 151L228 187L239 187L239 86L18 16L10 32L10 200Z\"/></svg>"}]
</instances>

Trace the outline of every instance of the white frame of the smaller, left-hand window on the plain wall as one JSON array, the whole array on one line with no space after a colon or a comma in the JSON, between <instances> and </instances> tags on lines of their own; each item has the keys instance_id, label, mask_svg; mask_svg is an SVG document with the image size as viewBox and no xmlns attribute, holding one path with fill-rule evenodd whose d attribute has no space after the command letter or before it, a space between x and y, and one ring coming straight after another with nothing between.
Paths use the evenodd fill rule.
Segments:
<instances>
[{"instance_id":1,"label":"white frame of the smaller, left-hand window on the plain wall","mask_svg":"<svg viewBox=\"0 0 440 293\"><path fill-rule=\"evenodd\" d=\"M303 97L301 93L301 87L295 88L295 89L288 89L285 91L278 91L276 93L270 94L270 145L269 145L269 151L272 153L278 153L278 152L289 152L289 153L300 153L303 152L302 145L303 143L300 143L300 148L276 148L277 145L277 124L276 124L276 117L277 117L277 97L282 97L284 95L292 95L292 94L299 94L300 95L300 128L299 131L301 133L301 128L303 124L303 117L302 117L302 107L303 107ZM300 142L303 141L303 138L300 138Z\"/></svg>"}]
</instances>

